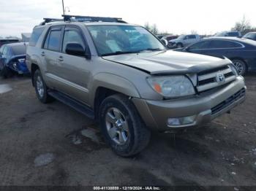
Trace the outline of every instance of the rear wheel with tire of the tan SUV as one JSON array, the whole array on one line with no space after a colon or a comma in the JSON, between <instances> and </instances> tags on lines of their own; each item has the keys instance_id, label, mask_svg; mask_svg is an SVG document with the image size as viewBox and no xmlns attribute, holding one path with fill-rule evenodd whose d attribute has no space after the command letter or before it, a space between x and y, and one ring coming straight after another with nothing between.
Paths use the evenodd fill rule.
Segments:
<instances>
[{"instance_id":1,"label":"rear wheel with tire of the tan SUV","mask_svg":"<svg viewBox=\"0 0 256 191\"><path fill-rule=\"evenodd\" d=\"M51 97L50 95L48 95L48 87L45 85L44 80L42 79L42 74L39 71L39 69L37 69L34 72L34 88L36 90L37 93L37 98L39 99L39 101L41 101L43 104L47 104L51 101L53 101L53 97Z\"/></svg>"}]
</instances>

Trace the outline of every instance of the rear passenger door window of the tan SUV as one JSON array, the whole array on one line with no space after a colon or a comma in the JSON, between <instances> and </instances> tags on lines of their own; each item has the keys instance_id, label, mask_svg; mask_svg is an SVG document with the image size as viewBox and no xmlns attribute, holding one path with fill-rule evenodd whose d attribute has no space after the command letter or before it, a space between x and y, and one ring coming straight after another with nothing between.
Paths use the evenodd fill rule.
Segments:
<instances>
[{"instance_id":1,"label":"rear passenger door window of the tan SUV","mask_svg":"<svg viewBox=\"0 0 256 191\"><path fill-rule=\"evenodd\" d=\"M59 51L61 47L61 30L50 31L48 34L48 50Z\"/></svg>"}]
</instances>

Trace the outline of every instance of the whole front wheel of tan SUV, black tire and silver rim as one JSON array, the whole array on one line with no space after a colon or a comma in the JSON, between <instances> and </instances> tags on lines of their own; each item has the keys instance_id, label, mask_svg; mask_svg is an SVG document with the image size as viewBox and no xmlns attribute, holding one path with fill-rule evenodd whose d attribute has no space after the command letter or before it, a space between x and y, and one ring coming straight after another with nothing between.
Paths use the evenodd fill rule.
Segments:
<instances>
[{"instance_id":1,"label":"whole front wheel of tan SUV, black tire and silver rim","mask_svg":"<svg viewBox=\"0 0 256 191\"><path fill-rule=\"evenodd\" d=\"M102 101L99 122L105 141L117 155L130 157L148 145L151 131L146 128L129 98L124 95L111 95Z\"/></svg>"}]
</instances>

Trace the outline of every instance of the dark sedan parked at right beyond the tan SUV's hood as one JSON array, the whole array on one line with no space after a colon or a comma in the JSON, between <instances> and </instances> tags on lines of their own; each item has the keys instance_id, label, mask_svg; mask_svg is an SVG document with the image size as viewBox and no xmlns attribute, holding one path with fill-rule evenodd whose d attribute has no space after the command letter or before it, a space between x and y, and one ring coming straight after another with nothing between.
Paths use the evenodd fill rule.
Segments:
<instances>
[{"instance_id":1,"label":"dark sedan parked at right beyond the tan SUV's hood","mask_svg":"<svg viewBox=\"0 0 256 191\"><path fill-rule=\"evenodd\" d=\"M176 51L192 52L211 55L219 58L223 56L233 61L238 74L244 75L247 71L256 71L256 42L250 39L236 37L214 37L202 39L189 47Z\"/></svg>"}]
</instances>

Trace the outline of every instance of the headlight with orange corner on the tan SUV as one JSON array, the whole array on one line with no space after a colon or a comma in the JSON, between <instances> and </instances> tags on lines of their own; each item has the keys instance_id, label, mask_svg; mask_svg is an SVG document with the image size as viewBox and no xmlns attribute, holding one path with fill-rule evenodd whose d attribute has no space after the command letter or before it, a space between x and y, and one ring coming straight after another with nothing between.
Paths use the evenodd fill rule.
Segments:
<instances>
[{"instance_id":1,"label":"headlight with orange corner on the tan SUV","mask_svg":"<svg viewBox=\"0 0 256 191\"><path fill-rule=\"evenodd\" d=\"M167 98L195 94L192 82L185 76L148 77L147 80L153 90Z\"/></svg>"}]
</instances>

